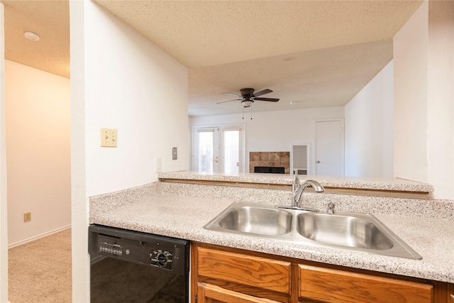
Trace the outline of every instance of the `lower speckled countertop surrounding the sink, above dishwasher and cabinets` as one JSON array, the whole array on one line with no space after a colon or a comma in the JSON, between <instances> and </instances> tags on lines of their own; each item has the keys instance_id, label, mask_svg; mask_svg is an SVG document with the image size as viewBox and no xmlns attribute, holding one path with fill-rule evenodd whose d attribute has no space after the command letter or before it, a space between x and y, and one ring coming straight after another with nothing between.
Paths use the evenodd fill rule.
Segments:
<instances>
[{"instance_id":1,"label":"lower speckled countertop surrounding the sink, above dishwasher and cabinets","mask_svg":"<svg viewBox=\"0 0 454 303\"><path fill-rule=\"evenodd\" d=\"M375 214L423 259L387 257L352 250L317 248L299 243L208 231L203 226L226 209L232 198L214 199L160 192L143 192L123 199L126 192L90 198L91 224L126 228L302 260L375 270L454 283L454 221Z\"/></svg>"}]
</instances>

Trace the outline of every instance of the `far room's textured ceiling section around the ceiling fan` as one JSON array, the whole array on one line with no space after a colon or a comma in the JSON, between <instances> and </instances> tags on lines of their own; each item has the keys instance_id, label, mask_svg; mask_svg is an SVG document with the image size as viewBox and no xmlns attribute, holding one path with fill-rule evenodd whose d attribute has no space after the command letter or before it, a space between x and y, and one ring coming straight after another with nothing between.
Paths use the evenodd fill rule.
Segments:
<instances>
[{"instance_id":1,"label":"far room's textured ceiling section around the ceiling fan","mask_svg":"<svg viewBox=\"0 0 454 303\"><path fill-rule=\"evenodd\" d=\"M189 114L233 114L242 111L238 99L222 92L272 89L255 101L253 111L343 106L392 60L392 40L380 40L304 53L281 55L189 70ZM290 104L291 101L297 102ZM249 110L249 109L248 109Z\"/></svg>"}]
</instances>

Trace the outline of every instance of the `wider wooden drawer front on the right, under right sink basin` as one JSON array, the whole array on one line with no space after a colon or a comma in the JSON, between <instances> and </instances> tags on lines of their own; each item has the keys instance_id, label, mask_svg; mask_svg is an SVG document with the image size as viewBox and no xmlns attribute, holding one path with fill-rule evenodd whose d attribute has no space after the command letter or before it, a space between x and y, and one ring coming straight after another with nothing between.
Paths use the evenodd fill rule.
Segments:
<instances>
[{"instance_id":1,"label":"wider wooden drawer front on the right, under right sink basin","mask_svg":"<svg viewBox=\"0 0 454 303\"><path fill-rule=\"evenodd\" d=\"M299 265L299 295L326 302L432 302L432 285Z\"/></svg>"}]
</instances>

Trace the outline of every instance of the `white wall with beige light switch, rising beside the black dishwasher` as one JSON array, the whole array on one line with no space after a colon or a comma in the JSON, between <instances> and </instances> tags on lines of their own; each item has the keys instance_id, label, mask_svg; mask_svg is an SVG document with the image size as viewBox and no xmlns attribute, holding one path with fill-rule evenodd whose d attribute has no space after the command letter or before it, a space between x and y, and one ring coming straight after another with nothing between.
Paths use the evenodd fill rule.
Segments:
<instances>
[{"instance_id":1,"label":"white wall with beige light switch, rising beside the black dishwasher","mask_svg":"<svg viewBox=\"0 0 454 303\"><path fill-rule=\"evenodd\" d=\"M70 1L73 301L88 302L87 197L187 170L187 69L92 1ZM118 128L118 148L99 128ZM172 147L178 160L172 160Z\"/></svg>"}]
</instances>

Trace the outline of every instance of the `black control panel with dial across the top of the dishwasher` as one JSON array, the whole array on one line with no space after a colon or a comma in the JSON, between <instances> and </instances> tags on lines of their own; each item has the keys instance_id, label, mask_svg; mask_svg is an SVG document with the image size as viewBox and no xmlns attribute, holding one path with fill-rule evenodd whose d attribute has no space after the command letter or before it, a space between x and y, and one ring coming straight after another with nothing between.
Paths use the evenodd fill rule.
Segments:
<instances>
[{"instance_id":1,"label":"black control panel with dial across the top of the dishwasher","mask_svg":"<svg viewBox=\"0 0 454 303\"><path fill-rule=\"evenodd\" d=\"M189 268L189 241L108 226L89 226L89 253L175 273Z\"/></svg>"}]
</instances>

